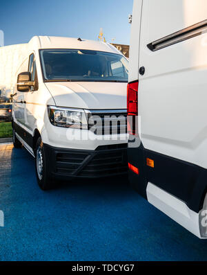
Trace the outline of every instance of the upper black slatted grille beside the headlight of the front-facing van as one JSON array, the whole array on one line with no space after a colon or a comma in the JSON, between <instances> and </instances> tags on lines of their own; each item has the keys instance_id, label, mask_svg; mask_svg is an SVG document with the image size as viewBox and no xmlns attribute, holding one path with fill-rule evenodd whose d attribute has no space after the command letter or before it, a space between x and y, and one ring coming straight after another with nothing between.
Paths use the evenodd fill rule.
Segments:
<instances>
[{"instance_id":1,"label":"upper black slatted grille beside the headlight of the front-facing van","mask_svg":"<svg viewBox=\"0 0 207 275\"><path fill-rule=\"evenodd\" d=\"M92 110L88 113L88 130L97 135L126 134L126 110Z\"/></svg>"}]
</instances>

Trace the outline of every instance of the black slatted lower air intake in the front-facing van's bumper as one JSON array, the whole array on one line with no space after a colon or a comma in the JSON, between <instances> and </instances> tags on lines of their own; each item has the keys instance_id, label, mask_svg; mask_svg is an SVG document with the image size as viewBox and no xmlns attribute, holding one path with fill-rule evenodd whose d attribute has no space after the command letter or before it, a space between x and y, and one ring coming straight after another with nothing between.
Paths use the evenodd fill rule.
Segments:
<instances>
[{"instance_id":1,"label":"black slatted lower air intake in the front-facing van's bumper","mask_svg":"<svg viewBox=\"0 0 207 275\"><path fill-rule=\"evenodd\" d=\"M92 152L57 152L55 172L77 177L107 177L127 172L127 144L99 146Z\"/></svg>"}]
</instances>

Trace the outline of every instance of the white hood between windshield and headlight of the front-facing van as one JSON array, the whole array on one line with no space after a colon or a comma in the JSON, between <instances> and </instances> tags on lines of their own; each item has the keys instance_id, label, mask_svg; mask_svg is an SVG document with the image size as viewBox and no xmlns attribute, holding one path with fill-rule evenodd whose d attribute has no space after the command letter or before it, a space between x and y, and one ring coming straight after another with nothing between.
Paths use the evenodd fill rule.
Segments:
<instances>
[{"instance_id":1,"label":"white hood between windshield and headlight of the front-facing van","mask_svg":"<svg viewBox=\"0 0 207 275\"><path fill-rule=\"evenodd\" d=\"M46 82L59 107L82 109L126 109L127 83Z\"/></svg>"}]
</instances>

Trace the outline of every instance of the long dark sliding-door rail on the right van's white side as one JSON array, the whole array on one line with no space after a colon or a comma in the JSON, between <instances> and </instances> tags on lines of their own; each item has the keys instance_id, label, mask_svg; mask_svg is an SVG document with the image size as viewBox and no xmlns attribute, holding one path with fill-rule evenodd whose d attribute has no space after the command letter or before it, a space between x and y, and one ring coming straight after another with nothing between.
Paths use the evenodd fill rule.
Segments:
<instances>
[{"instance_id":1,"label":"long dark sliding-door rail on the right van's white side","mask_svg":"<svg viewBox=\"0 0 207 275\"><path fill-rule=\"evenodd\" d=\"M207 19L148 44L150 51L158 51L173 44L207 33Z\"/></svg>"}]
</instances>

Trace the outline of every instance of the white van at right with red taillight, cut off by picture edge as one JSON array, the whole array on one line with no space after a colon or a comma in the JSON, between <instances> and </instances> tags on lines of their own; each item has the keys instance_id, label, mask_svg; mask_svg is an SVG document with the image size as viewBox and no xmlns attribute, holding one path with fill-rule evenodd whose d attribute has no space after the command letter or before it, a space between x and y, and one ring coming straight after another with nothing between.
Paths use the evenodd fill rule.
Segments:
<instances>
[{"instance_id":1,"label":"white van at right with red taillight, cut off by picture edge","mask_svg":"<svg viewBox=\"0 0 207 275\"><path fill-rule=\"evenodd\" d=\"M128 83L130 181L199 238L207 238L206 15L206 0L135 0Z\"/></svg>"}]
</instances>

